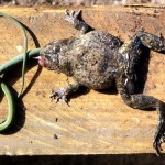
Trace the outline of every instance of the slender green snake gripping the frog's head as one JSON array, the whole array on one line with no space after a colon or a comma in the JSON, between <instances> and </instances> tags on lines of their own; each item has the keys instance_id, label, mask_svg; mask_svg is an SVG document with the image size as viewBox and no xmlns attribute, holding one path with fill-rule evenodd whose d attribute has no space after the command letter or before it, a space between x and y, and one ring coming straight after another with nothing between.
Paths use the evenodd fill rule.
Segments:
<instances>
[{"instance_id":1,"label":"slender green snake gripping the frog's head","mask_svg":"<svg viewBox=\"0 0 165 165\"><path fill-rule=\"evenodd\" d=\"M21 87L21 90L20 90L19 96L18 96L18 97L20 97L22 91L23 91L23 87L24 87L24 72L25 72L26 58L37 56L41 52L41 48L34 48L34 50L28 52L28 37L26 37L26 33L25 33L23 25L16 19L14 19L14 18L12 18L6 13L0 12L0 16L3 16L6 19L10 20L18 28L20 28L22 33L23 33L23 37L24 37L24 53L12 58L11 61L9 61L9 62L7 62L0 66L0 75L2 75L8 69L10 69L13 66L23 62L23 65L22 65L22 87ZM0 132L1 132L1 131L6 131L7 129L9 129L14 121L15 102L14 102L13 94L11 92L10 88L6 85L6 82L2 80L2 78L0 78L0 88L2 89L4 96L7 97L8 106L9 106L7 119L0 123Z\"/></svg>"}]
</instances>

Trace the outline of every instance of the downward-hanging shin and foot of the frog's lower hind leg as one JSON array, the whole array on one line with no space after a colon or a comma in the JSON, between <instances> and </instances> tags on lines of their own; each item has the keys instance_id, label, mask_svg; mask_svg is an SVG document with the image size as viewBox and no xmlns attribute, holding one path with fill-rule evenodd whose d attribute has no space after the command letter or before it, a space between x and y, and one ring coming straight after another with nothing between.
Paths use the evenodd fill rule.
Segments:
<instances>
[{"instance_id":1,"label":"downward-hanging shin and foot of the frog's lower hind leg","mask_svg":"<svg viewBox=\"0 0 165 165\"><path fill-rule=\"evenodd\" d=\"M156 150L156 154L160 156L161 151L163 148L161 147L161 144L165 142L165 103L158 102L158 124L157 124L157 130L155 133L155 139L153 142L153 147Z\"/></svg>"}]
</instances>

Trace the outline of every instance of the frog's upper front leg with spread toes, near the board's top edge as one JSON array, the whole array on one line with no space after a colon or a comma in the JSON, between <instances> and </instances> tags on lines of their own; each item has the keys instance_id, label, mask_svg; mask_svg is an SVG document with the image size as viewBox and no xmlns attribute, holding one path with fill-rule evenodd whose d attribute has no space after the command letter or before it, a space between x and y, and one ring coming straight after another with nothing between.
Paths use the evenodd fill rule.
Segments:
<instances>
[{"instance_id":1,"label":"frog's upper front leg with spread toes, near the board's top edge","mask_svg":"<svg viewBox=\"0 0 165 165\"><path fill-rule=\"evenodd\" d=\"M81 19L81 10L66 11L65 20L68 21L75 29L79 30L81 33L87 33L92 30L92 28L90 28L90 25L88 25Z\"/></svg>"}]
</instances>

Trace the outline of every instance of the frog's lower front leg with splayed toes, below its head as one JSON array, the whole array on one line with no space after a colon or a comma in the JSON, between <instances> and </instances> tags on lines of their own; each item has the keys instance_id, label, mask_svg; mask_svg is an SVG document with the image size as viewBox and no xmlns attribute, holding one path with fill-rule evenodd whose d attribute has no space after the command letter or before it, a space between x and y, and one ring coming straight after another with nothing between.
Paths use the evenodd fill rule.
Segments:
<instances>
[{"instance_id":1,"label":"frog's lower front leg with splayed toes, below its head","mask_svg":"<svg viewBox=\"0 0 165 165\"><path fill-rule=\"evenodd\" d=\"M77 91L79 86L79 84L70 84L67 87L61 88L58 90L52 90L50 98L52 99L52 101L56 100L56 102L58 102L62 100L68 103L68 96Z\"/></svg>"}]
</instances>

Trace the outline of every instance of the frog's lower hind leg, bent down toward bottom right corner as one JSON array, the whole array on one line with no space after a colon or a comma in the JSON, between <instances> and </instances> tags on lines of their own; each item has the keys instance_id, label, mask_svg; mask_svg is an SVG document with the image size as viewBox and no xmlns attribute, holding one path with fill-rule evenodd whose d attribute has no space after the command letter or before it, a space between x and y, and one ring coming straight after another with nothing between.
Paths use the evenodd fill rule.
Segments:
<instances>
[{"instance_id":1,"label":"frog's lower hind leg, bent down toward bottom right corner","mask_svg":"<svg viewBox=\"0 0 165 165\"><path fill-rule=\"evenodd\" d=\"M145 95L130 95L125 88L125 79L119 78L117 80L117 88L123 101L134 109L156 109L158 112L158 124L155 132L153 147L156 150L156 154L160 155L162 148L161 144L165 139L165 103L161 100Z\"/></svg>"}]
</instances>

